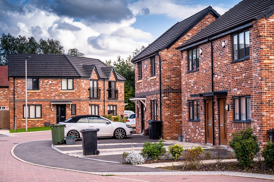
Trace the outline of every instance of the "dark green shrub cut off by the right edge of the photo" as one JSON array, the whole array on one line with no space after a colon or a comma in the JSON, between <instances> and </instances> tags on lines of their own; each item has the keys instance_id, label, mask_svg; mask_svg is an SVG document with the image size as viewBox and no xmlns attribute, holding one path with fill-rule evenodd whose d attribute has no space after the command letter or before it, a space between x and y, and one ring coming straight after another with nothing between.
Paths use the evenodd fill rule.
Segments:
<instances>
[{"instance_id":1,"label":"dark green shrub cut off by the right edge of the photo","mask_svg":"<svg viewBox=\"0 0 274 182\"><path fill-rule=\"evenodd\" d=\"M265 158L266 166L268 166L272 171L272 168L274 167L274 143L270 140L262 150L262 156Z\"/></svg>"}]
</instances>

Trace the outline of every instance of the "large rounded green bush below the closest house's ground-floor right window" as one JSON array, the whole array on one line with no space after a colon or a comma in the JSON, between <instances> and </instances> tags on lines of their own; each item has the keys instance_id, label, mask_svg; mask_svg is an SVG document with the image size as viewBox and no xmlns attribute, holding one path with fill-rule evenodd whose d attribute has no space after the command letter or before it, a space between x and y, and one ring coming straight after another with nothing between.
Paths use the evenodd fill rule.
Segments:
<instances>
[{"instance_id":1,"label":"large rounded green bush below the closest house's ground-floor right window","mask_svg":"<svg viewBox=\"0 0 274 182\"><path fill-rule=\"evenodd\" d=\"M228 145L234 150L235 158L245 169L251 167L254 156L260 151L258 138L253 134L252 128L231 134Z\"/></svg>"}]
</instances>

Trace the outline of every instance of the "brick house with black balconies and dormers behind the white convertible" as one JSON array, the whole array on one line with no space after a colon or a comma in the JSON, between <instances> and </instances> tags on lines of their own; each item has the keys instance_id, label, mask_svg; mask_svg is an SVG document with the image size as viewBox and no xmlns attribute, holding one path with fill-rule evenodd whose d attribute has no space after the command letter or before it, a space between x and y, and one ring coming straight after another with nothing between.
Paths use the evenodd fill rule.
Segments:
<instances>
[{"instance_id":1,"label":"brick house with black balconies and dormers behind the white convertible","mask_svg":"<svg viewBox=\"0 0 274 182\"><path fill-rule=\"evenodd\" d=\"M10 128L25 128L25 58L28 127L81 114L124 114L125 79L99 59L57 54L9 54Z\"/></svg>"}]
</instances>

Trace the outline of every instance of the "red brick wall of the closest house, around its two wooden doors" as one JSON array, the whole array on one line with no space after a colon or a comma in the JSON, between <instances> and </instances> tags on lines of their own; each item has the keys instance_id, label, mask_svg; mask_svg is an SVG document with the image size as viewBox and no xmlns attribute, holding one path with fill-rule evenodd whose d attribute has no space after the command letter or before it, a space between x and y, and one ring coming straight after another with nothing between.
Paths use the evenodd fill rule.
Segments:
<instances>
[{"instance_id":1,"label":"red brick wall of the closest house, around its two wooden doors","mask_svg":"<svg viewBox=\"0 0 274 182\"><path fill-rule=\"evenodd\" d=\"M268 19L254 21L250 31L250 59L232 62L231 35L213 41L214 91L228 90L226 100L230 105L227 112L227 137L232 132L251 127L260 144L269 139L266 130L274 128L274 55L272 49L272 15ZM226 46L221 46L225 40ZM211 91L211 47L207 42L199 46L199 70L188 72L187 51L182 51L182 123L186 142L205 143L204 100L210 97L191 98L190 94ZM233 123L233 97L251 96L251 123ZM218 98L214 96L215 145L219 145ZM188 100L200 100L200 122L188 121Z\"/></svg>"}]
</instances>

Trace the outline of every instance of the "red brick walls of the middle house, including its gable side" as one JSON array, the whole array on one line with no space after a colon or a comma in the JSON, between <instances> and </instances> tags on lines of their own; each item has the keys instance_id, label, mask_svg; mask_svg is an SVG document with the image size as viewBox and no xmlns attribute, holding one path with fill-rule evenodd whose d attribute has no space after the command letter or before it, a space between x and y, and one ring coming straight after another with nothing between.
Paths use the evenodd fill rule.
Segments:
<instances>
[{"instance_id":1,"label":"red brick walls of the middle house, including its gable side","mask_svg":"<svg viewBox=\"0 0 274 182\"><path fill-rule=\"evenodd\" d=\"M162 121L163 138L177 139L182 134L181 128L181 56L175 48L195 35L202 28L215 20L214 16L208 14L183 37L181 37L169 49L160 51L161 56L161 79L162 79ZM158 100L158 120L160 120L160 85L159 85L159 57L155 57L156 76L151 77L151 61L149 58L142 61L142 82L139 82L138 65L135 64L135 96L146 96L145 128L146 121L151 119L150 101ZM146 68L145 68L146 65ZM141 111L136 106L136 132L141 131ZM139 112L139 118L138 118Z\"/></svg>"}]
</instances>

